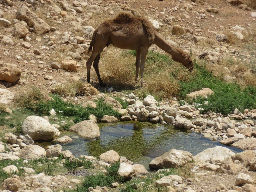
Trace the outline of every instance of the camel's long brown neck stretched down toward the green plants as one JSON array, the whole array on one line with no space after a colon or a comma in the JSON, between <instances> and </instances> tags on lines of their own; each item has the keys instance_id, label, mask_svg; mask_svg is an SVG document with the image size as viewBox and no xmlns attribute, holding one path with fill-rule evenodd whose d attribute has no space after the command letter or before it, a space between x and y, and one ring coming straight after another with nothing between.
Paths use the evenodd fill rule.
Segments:
<instances>
[{"instance_id":1,"label":"camel's long brown neck stretched down toward the green plants","mask_svg":"<svg viewBox=\"0 0 256 192\"><path fill-rule=\"evenodd\" d=\"M176 48L175 46L172 46L168 44L163 37L155 31L155 39L153 44L157 45L159 48L164 50L165 52L169 53L172 55L173 59L176 61L180 61L184 66L186 66L186 59L184 56L179 51L179 48Z\"/></svg>"}]
</instances>

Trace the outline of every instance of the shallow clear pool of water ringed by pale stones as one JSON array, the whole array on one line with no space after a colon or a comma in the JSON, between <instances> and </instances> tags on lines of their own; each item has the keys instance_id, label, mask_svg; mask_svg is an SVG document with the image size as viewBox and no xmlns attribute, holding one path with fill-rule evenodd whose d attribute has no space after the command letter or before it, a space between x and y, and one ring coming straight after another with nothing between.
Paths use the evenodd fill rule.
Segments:
<instances>
[{"instance_id":1,"label":"shallow clear pool of water ringed by pale stones","mask_svg":"<svg viewBox=\"0 0 256 192\"><path fill-rule=\"evenodd\" d=\"M173 126L161 124L119 122L99 124L99 127L101 128L100 137L94 140L77 137L73 132L63 132L61 136L68 135L73 137L74 141L62 145L62 150L69 150L76 157L79 155L99 157L108 150L114 150L120 156L125 156L134 163L148 167L153 158L163 155L172 148L196 155L207 148L221 145L217 141L202 137L201 134L183 132ZM41 143L41 145L52 144L57 143ZM234 147L228 148L235 153L241 151Z\"/></svg>"}]
</instances>

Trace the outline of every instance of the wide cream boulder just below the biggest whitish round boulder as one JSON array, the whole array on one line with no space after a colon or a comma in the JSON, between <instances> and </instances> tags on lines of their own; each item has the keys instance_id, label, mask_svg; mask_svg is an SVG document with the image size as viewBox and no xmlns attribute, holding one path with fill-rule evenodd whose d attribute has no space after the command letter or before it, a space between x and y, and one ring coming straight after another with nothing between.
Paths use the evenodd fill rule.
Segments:
<instances>
[{"instance_id":1,"label":"wide cream boulder just below the biggest whitish round boulder","mask_svg":"<svg viewBox=\"0 0 256 192\"><path fill-rule=\"evenodd\" d=\"M38 159L44 157L46 152L44 148L38 145L27 145L20 150L20 157L25 159Z\"/></svg>"}]
</instances>

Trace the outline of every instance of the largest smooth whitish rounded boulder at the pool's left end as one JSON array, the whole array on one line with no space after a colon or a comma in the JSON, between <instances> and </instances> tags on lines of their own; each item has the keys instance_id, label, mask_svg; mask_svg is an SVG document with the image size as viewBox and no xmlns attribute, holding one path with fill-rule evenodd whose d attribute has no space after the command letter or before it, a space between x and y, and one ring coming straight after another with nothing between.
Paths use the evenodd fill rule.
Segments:
<instances>
[{"instance_id":1,"label":"largest smooth whitish rounded boulder at the pool's left end","mask_svg":"<svg viewBox=\"0 0 256 192\"><path fill-rule=\"evenodd\" d=\"M54 127L42 117L28 116L21 126L24 135L35 140L51 140L54 137Z\"/></svg>"}]
</instances>

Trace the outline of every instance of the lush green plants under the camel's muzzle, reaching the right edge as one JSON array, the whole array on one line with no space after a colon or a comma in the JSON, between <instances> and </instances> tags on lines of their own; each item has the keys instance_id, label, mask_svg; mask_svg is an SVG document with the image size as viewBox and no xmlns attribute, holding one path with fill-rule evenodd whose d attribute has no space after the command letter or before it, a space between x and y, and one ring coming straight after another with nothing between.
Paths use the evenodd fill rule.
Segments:
<instances>
[{"instance_id":1,"label":"lush green plants under the camel's muzzle, reaching the right edge","mask_svg":"<svg viewBox=\"0 0 256 192\"><path fill-rule=\"evenodd\" d=\"M186 98L186 94L202 88L210 88L214 92L208 98L190 100L190 103L200 103L204 108L203 113L213 111L224 115L232 113L235 108L240 111L256 108L256 87L242 88L235 83L225 83L214 77L207 71L204 64L195 63L196 75L188 82L180 82L180 99ZM207 102L205 102L207 101Z\"/></svg>"}]
</instances>

